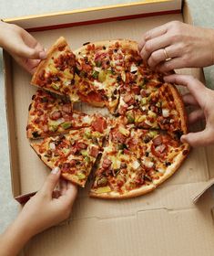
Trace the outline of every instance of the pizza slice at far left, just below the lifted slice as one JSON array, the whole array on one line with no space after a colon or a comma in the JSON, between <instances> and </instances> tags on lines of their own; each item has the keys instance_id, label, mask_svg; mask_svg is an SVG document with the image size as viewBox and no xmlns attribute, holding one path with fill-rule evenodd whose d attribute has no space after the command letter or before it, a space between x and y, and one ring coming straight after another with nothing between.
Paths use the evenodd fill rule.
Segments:
<instances>
[{"instance_id":1,"label":"pizza slice at far left, just below the lifted slice","mask_svg":"<svg viewBox=\"0 0 214 256\"><path fill-rule=\"evenodd\" d=\"M107 121L97 114L74 111L72 102L66 96L38 90L29 106L26 133L27 138L37 139L91 125L99 126L97 129L102 132Z\"/></svg>"}]
</instances>

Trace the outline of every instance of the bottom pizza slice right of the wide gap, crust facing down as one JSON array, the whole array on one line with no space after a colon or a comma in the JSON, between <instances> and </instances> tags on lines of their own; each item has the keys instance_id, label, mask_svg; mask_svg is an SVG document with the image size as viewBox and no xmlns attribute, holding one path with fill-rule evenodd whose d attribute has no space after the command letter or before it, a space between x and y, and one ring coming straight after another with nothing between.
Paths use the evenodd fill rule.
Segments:
<instances>
[{"instance_id":1,"label":"bottom pizza slice right of the wide gap, crust facing down","mask_svg":"<svg viewBox=\"0 0 214 256\"><path fill-rule=\"evenodd\" d=\"M156 186L140 163L135 129L117 124L111 129L95 173L90 197L127 198L148 193ZM143 179L141 177L144 177Z\"/></svg>"}]
</instances>

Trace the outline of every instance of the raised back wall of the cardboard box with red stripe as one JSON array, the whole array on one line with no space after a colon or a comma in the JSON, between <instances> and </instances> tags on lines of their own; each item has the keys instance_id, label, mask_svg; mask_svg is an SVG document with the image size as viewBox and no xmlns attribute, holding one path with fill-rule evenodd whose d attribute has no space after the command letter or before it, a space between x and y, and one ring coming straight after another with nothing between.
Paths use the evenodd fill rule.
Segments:
<instances>
[{"instance_id":1,"label":"raised back wall of the cardboard box with red stripe","mask_svg":"<svg viewBox=\"0 0 214 256\"><path fill-rule=\"evenodd\" d=\"M21 16L5 19L28 31L41 31L62 27L74 27L118 21L142 16L175 14L181 11L182 0L146 0L136 3L107 5L81 10L44 14L39 16Z\"/></svg>"}]
</instances>

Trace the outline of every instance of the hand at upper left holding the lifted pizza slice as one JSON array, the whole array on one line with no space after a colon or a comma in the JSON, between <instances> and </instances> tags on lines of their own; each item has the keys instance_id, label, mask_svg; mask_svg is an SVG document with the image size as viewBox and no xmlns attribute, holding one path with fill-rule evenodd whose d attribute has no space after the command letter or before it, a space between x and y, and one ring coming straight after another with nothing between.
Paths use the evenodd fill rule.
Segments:
<instances>
[{"instance_id":1,"label":"hand at upper left holding the lifted pizza slice","mask_svg":"<svg viewBox=\"0 0 214 256\"><path fill-rule=\"evenodd\" d=\"M33 74L41 59L46 59L44 48L25 31L14 24L0 21L0 47L15 59L15 61Z\"/></svg>"}]
</instances>

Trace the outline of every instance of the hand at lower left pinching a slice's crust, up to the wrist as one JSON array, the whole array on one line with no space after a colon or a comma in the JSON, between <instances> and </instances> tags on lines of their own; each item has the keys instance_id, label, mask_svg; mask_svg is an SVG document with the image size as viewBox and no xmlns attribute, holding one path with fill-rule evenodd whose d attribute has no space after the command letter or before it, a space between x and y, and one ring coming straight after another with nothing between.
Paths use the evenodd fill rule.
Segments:
<instances>
[{"instance_id":1,"label":"hand at lower left pinching a slice's crust, up to the wrist","mask_svg":"<svg viewBox=\"0 0 214 256\"><path fill-rule=\"evenodd\" d=\"M60 171L56 167L47 176L43 187L31 197L19 214L17 222L29 237L69 217L77 188L66 180L59 181L59 177ZM54 190L58 181L60 190Z\"/></svg>"}]
</instances>

